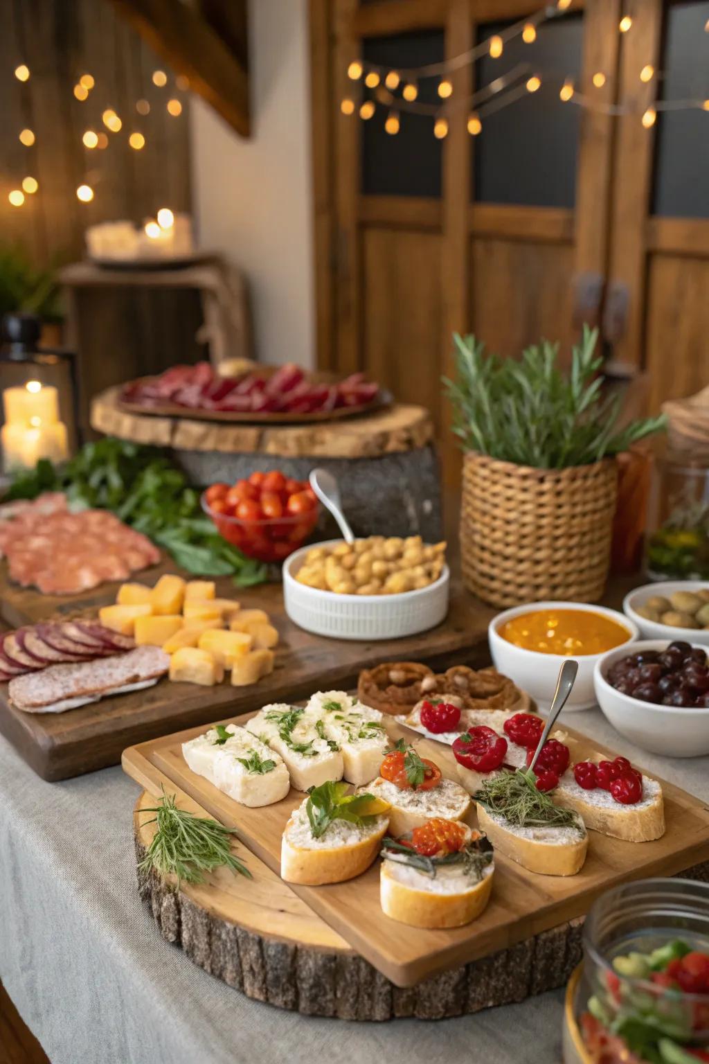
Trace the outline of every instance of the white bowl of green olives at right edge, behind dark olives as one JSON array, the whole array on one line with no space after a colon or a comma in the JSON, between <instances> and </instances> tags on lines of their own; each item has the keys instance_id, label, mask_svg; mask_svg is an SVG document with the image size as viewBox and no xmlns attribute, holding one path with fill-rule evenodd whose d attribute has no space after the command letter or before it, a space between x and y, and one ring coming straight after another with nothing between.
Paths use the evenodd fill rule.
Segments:
<instances>
[{"instance_id":1,"label":"white bowl of green olives at right edge, behind dark olives","mask_svg":"<svg viewBox=\"0 0 709 1064\"><path fill-rule=\"evenodd\" d=\"M709 646L709 583L668 580L645 584L623 600L643 639L683 639Z\"/></svg>"}]
</instances>

